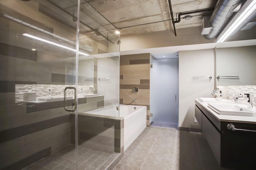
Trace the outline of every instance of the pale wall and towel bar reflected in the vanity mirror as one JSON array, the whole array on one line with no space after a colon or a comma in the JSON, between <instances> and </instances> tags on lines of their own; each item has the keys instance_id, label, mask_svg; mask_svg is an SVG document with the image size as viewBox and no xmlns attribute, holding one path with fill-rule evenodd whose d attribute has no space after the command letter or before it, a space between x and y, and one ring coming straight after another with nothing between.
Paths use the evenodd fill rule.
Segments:
<instances>
[{"instance_id":1,"label":"pale wall and towel bar reflected in the vanity mirror","mask_svg":"<svg viewBox=\"0 0 256 170\"><path fill-rule=\"evenodd\" d=\"M256 46L216 49L216 76L239 79L216 79L217 86L256 85Z\"/></svg>"}]
</instances>

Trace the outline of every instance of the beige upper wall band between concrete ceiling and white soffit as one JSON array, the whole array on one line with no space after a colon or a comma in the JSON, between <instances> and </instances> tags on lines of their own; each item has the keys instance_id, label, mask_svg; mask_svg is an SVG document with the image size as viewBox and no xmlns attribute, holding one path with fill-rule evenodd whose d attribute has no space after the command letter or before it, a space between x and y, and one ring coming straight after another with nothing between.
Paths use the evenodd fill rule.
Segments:
<instances>
[{"instance_id":1,"label":"beige upper wall band between concrete ceiling and white soffit","mask_svg":"<svg viewBox=\"0 0 256 170\"><path fill-rule=\"evenodd\" d=\"M122 35L121 30L120 51L216 42L215 39L205 39L201 35L200 26L177 29L176 32L177 36L174 35L173 30Z\"/></svg>"}]
</instances>

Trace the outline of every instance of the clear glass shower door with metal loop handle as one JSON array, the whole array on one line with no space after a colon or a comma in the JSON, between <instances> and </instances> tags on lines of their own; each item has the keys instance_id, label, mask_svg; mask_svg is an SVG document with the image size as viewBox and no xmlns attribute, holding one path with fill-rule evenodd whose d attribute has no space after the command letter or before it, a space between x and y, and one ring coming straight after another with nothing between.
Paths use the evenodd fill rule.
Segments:
<instances>
[{"instance_id":1,"label":"clear glass shower door with metal loop handle","mask_svg":"<svg viewBox=\"0 0 256 170\"><path fill-rule=\"evenodd\" d=\"M0 169L76 169L74 113L63 108L76 88L76 16L60 5L0 1Z\"/></svg>"}]
</instances>

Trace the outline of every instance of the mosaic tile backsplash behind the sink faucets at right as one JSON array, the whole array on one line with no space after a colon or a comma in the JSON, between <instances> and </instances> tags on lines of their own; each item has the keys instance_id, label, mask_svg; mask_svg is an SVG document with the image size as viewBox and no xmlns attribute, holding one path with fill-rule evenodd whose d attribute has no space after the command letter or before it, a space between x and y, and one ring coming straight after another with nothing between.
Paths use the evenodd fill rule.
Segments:
<instances>
[{"instance_id":1,"label":"mosaic tile backsplash behind the sink faucets at right","mask_svg":"<svg viewBox=\"0 0 256 170\"><path fill-rule=\"evenodd\" d=\"M240 94L249 93L252 97L252 104L256 107L256 86L226 86L227 87L227 97L233 100L234 97Z\"/></svg>"}]
</instances>

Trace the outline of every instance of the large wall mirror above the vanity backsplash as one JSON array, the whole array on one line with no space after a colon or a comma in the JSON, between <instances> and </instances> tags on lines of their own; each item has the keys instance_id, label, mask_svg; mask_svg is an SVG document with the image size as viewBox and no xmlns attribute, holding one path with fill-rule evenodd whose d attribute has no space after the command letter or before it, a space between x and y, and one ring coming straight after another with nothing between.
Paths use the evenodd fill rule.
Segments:
<instances>
[{"instance_id":1,"label":"large wall mirror above the vanity backsplash","mask_svg":"<svg viewBox=\"0 0 256 170\"><path fill-rule=\"evenodd\" d=\"M255 32L256 25L216 45L216 86L256 85Z\"/></svg>"}]
</instances>

